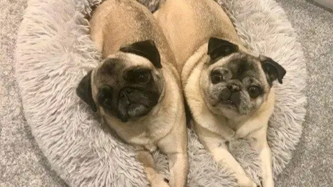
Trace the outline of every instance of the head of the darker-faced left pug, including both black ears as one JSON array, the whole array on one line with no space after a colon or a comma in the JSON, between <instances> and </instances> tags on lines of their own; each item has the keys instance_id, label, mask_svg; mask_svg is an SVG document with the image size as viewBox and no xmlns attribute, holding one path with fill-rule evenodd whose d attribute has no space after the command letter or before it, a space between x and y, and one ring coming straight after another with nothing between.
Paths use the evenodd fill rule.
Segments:
<instances>
[{"instance_id":1,"label":"head of the darker-faced left pug, including both black ears","mask_svg":"<svg viewBox=\"0 0 333 187\"><path fill-rule=\"evenodd\" d=\"M81 80L77 94L94 112L101 107L126 123L146 116L157 105L164 87L161 68L155 44L137 42L103 60Z\"/></svg>"}]
</instances>

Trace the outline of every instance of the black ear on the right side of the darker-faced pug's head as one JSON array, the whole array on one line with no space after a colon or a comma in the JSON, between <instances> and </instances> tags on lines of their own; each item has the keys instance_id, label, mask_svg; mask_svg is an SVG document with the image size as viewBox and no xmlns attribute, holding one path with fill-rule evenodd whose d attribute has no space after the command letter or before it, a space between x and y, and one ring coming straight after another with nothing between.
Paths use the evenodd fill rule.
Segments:
<instances>
[{"instance_id":1,"label":"black ear on the right side of the darker-faced pug's head","mask_svg":"<svg viewBox=\"0 0 333 187\"><path fill-rule=\"evenodd\" d=\"M156 68L162 68L160 53L155 46L155 42L151 39L121 47L119 51L145 57L150 60Z\"/></svg>"}]
</instances>

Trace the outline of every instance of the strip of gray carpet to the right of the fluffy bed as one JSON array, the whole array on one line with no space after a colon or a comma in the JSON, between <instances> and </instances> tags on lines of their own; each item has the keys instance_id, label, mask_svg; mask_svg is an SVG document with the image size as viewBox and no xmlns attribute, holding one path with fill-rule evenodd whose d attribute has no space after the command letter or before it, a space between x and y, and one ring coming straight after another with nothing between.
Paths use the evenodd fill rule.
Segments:
<instances>
[{"instance_id":1,"label":"strip of gray carpet to the right of the fluffy bed","mask_svg":"<svg viewBox=\"0 0 333 187\"><path fill-rule=\"evenodd\" d=\"M333 186L333 14L307 1L278 0L307 58L303 136L279 186Z\"/></svg>"}]
</instances>

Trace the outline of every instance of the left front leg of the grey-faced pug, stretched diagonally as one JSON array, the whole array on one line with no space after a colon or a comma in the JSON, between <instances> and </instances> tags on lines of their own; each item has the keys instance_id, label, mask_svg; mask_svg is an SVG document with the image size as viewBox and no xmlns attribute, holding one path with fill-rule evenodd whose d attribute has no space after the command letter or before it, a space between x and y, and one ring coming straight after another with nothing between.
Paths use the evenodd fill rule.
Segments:
<instances>
[{"instance_id":1,"label":"left front leg of the grey-faced pug, stretched diagonally","mask_svg":"<svg viewBox=\"0 0 333 187\"><path fill-rule=\"evenodd\" d=\"M200 130L198 130L198 128L200 128ZM241 165L234 159L232 154L230 154L222 136L210 132L203 127L198 127L198 125L196 125L196 132L205 149L212 153L214 160L219 163L221 167L228 167L234 172L234 177L237 179L239 186L258 186L246 175Z\"/></svg>"}]
</instances>

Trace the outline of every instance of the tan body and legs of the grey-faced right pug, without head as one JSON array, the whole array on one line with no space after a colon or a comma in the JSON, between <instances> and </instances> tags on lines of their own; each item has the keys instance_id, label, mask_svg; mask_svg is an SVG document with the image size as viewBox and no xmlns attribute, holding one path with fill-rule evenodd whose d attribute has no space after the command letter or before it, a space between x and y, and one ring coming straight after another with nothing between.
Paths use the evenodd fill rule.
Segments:
<instances>
[{"instance_id":1,"label":"tan body and legs of the grey-faced right pug, without head","mask_svg":"<svg viewBox=\"0 0 333 187\"><path fill-rule=\"evenodd\" d=\"M232 22L223 9L212 0L168 0L155 12L164 35L176 55L178 71L182 75L185 98L194 118L194 129L216 162L229 167L240 186L257 186L227 150L226 142L248 139L262 160L262 185L274 186L271 150L266 140L268 119L273 112L274 90L266 95L266 101L247 116L214 114L204 100L199 86L204 63L207 62L207 43L210 37L226 39L249 53L241 43Z\"/></svg>"}]
</instances>

